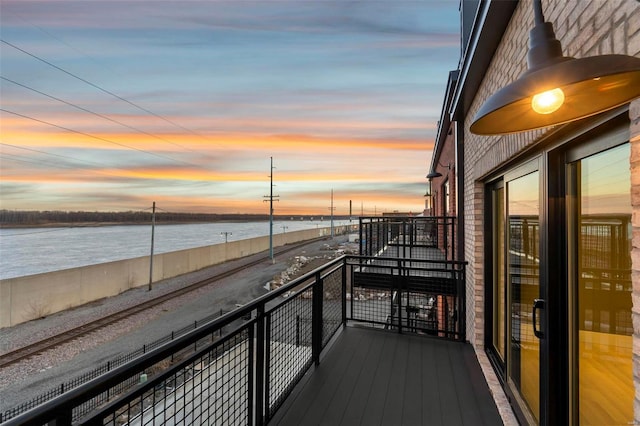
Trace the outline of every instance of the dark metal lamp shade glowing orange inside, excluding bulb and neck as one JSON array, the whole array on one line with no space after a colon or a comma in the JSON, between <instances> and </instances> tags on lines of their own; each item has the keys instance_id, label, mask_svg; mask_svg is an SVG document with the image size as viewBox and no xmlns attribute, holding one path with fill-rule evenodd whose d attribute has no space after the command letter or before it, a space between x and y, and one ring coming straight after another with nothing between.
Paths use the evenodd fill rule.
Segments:
<instances>
[{"instance_id":1,"label":"dark metal lamp shade glowing orange inside, excluding bulb and neck","mask_svg":"<svg viewBox=\"0 0 640 426\"><path fill-rule=\"evenodd\" d=\"M538 114L531 99L560 88L565 101L550 114ZM546 67L530 69L494 93L471 124L479 135L533 130L589 117L624 105L640 96L640 58L601 55L563 57Z\"/></svg>"}]
</instances>

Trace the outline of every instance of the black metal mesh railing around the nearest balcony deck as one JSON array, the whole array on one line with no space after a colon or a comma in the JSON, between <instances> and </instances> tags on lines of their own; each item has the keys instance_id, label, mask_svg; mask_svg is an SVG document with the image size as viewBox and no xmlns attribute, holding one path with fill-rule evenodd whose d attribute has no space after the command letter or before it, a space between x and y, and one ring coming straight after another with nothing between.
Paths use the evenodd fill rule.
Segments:
<instances>
[{"instance_id":1,"label":"black metal mesh railing around the nearest balcony deck","mask_svg":"<svg viewBox=\"0 0 640 426\"><path fill-rule=\"evenodd\" d=\"M266 424L347 322L463 340L464 266L342 256L6 424Z\"/></svg>"}]
</instances>

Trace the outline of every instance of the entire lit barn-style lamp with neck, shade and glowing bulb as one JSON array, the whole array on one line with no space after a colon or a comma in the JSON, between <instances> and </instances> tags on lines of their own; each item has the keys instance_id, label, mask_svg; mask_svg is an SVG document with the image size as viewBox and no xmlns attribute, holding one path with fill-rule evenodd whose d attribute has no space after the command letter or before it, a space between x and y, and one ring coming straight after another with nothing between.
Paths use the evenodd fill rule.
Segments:
<instances>
[{"instance_id":1,"label":"entire lit barn-style lamp with neck, shade and glowing bulb","mask_svg":"<svg viewBox=\"0 0 640 426\"><path fill-rule=\"evenodd\" d=\"M471 132L492 135L564 124L616 108L640 97L640 58L562 55L553 24L533 0L527 71L480 107Z\"/></svg>"}]
</instances>

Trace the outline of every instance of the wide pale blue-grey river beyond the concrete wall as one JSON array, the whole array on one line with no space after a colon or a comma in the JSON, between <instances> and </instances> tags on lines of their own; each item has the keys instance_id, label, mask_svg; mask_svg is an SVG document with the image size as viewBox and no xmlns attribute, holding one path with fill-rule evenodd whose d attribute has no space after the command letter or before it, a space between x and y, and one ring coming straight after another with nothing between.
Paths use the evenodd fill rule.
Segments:
<instances>
[{"instance_id":1,"label":"wide pale blue-grey river beyond the concrete wall","mask_svg":"<svg viewBox=\"0 0 640 426\"><path fill-rule=\"evenodd\" d=\"M358 221L334 221L336 226L349 223ZM330 226L330 220L276 221L273 234ZM269 235L269 222L156 225L153 252L265 235ZM148 256L150 252L151 225L0 229L0 279Z\"/></svg>"}]
</instances>

